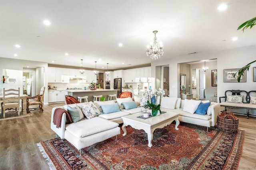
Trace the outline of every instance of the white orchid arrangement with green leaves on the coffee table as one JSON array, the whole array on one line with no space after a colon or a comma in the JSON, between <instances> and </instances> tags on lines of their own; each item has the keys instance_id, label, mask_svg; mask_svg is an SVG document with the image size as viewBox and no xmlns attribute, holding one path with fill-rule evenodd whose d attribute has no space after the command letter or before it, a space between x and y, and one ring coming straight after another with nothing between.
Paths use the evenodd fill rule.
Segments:
<instances>
[{"instance_id":1,"label":"white orchid arrangement with green leaves on the coffee table","mask_svg":"<svg viewBox=\"0 0 256 170\"><path fill-rule=\"evenodd\" d=\"M152 116L160 115L162 112L160 110L161 105L158 104L158 98L160 98L162 95L164 96L165 92L161 88L159 90L148 90L147 92L144 92L143 96L148 96L147 104L145 104L143 107L145 109L148 109L148 113ZM160 103L159 100L159 103ZM150 113L151 112L151 113Z\"/></svg>"}]
</instances>

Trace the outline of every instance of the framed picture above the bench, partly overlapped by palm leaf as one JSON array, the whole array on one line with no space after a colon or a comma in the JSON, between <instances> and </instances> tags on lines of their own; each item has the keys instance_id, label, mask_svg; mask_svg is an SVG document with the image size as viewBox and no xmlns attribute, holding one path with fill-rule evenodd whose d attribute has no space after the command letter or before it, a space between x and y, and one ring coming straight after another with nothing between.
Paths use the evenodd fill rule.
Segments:
<instances>
[{"instance_id":1,"label":"framed picture above the bench, partly overlapped by palm leaf","mask_svg":"<svg viewBox=\"0 0 256 170\"><path fill-rule=\"evenodd\" d=\"M238 82L237 81L238 73L236 74L236 72L239 69L240 68L224 69L224 82ZM241 76L240 82L246 82L246 70L244 71L244 75Z\"/></svg>"}]
</instances>

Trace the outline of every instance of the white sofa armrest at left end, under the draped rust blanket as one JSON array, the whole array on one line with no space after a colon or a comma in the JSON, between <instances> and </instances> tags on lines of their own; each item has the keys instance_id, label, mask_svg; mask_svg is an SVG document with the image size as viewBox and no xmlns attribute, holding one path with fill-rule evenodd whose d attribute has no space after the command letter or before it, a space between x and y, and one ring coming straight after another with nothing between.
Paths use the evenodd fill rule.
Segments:
<instances>
[{"instance_id":1,"label":"white sofa armrest at left end, under the draped rust blanket","mask_svg":"<svg viewBox=\"0 0 256 170\"><path fill-rule=\"evenodd\" d=\"M57 108L62 108L64 109L63 106L60 107L53 107L52 108L52 115L51 115L51 129L61 138L64 139L64 133L65 133L65 127L66 127L66 113L62 114L62 119L61 119L61 125L59 128L56 128L56 125L53 124L53 114L55 109Z\"/></svg>"}]
</instances>

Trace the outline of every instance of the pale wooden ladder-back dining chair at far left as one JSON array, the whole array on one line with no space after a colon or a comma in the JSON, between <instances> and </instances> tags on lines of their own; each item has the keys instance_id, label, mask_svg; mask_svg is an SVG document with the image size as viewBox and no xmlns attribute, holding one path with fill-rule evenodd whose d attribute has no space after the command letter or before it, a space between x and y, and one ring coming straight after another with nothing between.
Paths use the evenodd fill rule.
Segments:
<instances>
[{"instance_id":1,"label":"pale wooden ladder-back dining chair at far left","mask_svg":"<svg viewBox=\"0 0 256 170\"><path fill-rule=\"evenodd\" d=\"M10 113L12 109L18 112L20 115L20 88L16 89L3 89L3 102L1 103L1 112L3 118L5 118L6 113ZM6 112L6 110L9 110Z\"/></svg>"}]
</instances>

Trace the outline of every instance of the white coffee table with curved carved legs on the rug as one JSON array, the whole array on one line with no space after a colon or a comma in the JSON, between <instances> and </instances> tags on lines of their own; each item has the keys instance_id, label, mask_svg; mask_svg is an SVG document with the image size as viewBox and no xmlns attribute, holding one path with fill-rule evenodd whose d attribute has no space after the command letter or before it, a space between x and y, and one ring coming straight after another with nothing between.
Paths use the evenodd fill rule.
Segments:
<instances>
[{"instance_id":1,"label":"white coffee table with curved carved legs on the rug","mask_svg":"<svg viewBox=\"0 0 256 170\"><path fill-rule=\"evenodd\" d=\"M130 125L134 129L143 129L148 134L148 147L152 147L153 132L157 128L163 128L170 125L172 121L176 121L175 129L178 129L180 121L178 119L179 113L174 113L167 111L159 116L150 117L148 119L138 118L140 113L127 115L122 117L124 124L122 125L122 130L124 131L123 136L126 136L126 126Z\"/></svg>"}]
</instances>

